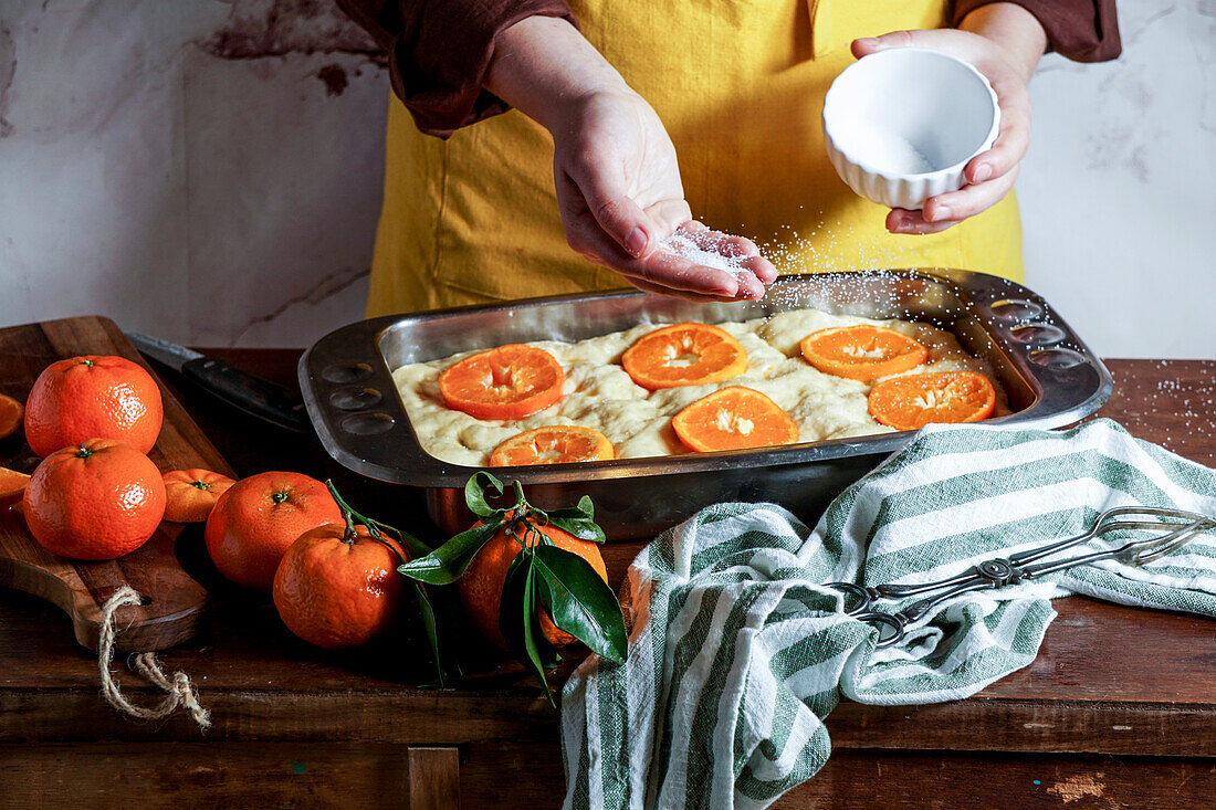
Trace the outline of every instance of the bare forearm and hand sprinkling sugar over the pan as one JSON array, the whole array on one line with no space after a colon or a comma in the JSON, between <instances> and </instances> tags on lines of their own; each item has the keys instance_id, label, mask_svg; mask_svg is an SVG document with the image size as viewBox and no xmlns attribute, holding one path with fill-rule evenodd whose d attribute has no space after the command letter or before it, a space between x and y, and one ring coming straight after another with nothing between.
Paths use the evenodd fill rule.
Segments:
<instances>
[{"instance_id":1,"label":"bare forearm and hand sprinkling sugar over the pan","mask_svg":"<svg viewBox=\"0 0 1216 810\"><path fill-rule=\"evenodd\" d=\"M777 269L738 236L692 218L663 122L568 22L527 17L499 34L486 85L553 136L553 184L570 247L646 292L698 300L764 296ZM662 244L681 230L733 272Z\"/></svg>"}]
</instances>

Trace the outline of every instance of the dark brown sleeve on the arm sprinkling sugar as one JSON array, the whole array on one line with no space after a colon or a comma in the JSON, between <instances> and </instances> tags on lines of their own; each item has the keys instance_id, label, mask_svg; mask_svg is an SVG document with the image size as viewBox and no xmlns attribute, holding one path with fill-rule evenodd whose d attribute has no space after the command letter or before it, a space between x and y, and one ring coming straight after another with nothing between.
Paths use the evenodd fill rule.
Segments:
<instances>
[{"instance_id":1,"label":"dark brown sleeve on the arm sprinkling sugar","mask_svg":"<svg viewBox=\"0 0 1216 810\"><path fill-rule=\"evenodd\" d=\"M505 112L482 88L494 39L525 17L564 17L565 0L338 0L342 10L388 52L393 91L428 135Z\"/></svg>"}]
</instances>

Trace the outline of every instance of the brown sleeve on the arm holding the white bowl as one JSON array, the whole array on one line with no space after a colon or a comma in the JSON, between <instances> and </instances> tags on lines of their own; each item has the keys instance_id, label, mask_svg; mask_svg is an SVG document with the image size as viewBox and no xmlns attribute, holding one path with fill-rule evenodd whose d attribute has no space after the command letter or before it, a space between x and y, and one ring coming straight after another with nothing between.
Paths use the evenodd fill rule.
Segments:
<instances>
[{"instance_id":1,"label":"brown sleeve on the arm holding the white bowl","mask_svg":"<svg viewBox=\"0 0 1216 810\"><path fill-rule=\"evenodd\" d=\"M996 0L956 0L953 24ZM1105 62L1122 52L1115 0L1013 0L1047 32L1047 47L1074 62Z\"/></svg>"}]
</instances>

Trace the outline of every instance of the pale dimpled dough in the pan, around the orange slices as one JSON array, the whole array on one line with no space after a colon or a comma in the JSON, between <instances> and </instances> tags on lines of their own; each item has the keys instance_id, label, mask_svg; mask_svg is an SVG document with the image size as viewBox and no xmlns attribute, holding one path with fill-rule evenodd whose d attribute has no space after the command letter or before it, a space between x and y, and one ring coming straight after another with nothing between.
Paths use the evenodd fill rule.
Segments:
<instances>
[{"instance_id":1,"label":"pale dimpled dough in the pan, around the orange slices","mask_svg":"<svg viewBox=\"0 0 1216 810\"><path fill-rule=\"evenodd\" d=\"M618 459L682 455L688 450L676 438L671 417L686 405L727 386L745 386L767 394L798 422L800 441L891 433L891 428L876 422L867 411L871 383L823 373L809 365L799 350L799 343L811 332L857 324L885 326L924 344L929 359L905 373L975 371L984 375L997 392L996 414L1008 412L1004 392L992 369L986 361L967 354L950 332L928 324L874 321L817 309L717 324L743 344L748 370L720 383L655 392L634 383L620 365L620 355L637 338L663 324L635 326L576 343L535 341L529 345L545 349L562 365L565 372L563 396L556 405L516 421L477 420L444 405L439 372L475 351L401 366L393 372L393 379L423 450L443 461L471 467L484 467L490 452L514 434L547 424L595 428L613 443Z\"/></svg>"}]
</instances>

